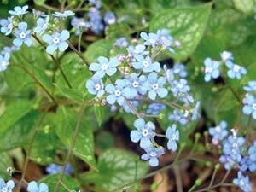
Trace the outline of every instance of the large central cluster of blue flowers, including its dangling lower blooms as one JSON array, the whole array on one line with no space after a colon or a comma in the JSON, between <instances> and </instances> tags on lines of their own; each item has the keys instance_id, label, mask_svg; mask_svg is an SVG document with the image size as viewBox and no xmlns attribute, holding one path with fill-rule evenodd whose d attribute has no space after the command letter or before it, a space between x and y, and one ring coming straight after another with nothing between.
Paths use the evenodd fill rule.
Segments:
<instances>
[{"instance_id":1,"label":"large central cluster of blue flowers, including its dangling lower blooms","mask_svg":"<svg viewBox=\"0 0 256 192\"><path fill-rule=\"evenodd\" d=\"M141 32L140 36L141 39L131 45L125 38L117 39L114 45L126 49L126 54L109 59L100 56L91 63L89 69L94 75L85 86L97 101L107 102L112 110L119 106L126 113L137 115L131 141L139 143L145 150L143 160L149 160L150 166L158 166L158 159L165 154L165 149L155 142L154 137L166 138L167 148L176 151L179 140L176 124L184 125L197 119L200 102L195 102L189 94L190 86L184 79L187 72L183 64L176 63L169 68L168 64L161 67L160 61L155 61L161 51L175 52L177 49L177 41L169 32L162 29L156 33ZM154 122L145 118L159 118L167 107L173 108L169 117L171 125L167 127L166 134L161 135L156 132ZM145 109L146 112L141 113Z\"/></svg>"}]
</instances>

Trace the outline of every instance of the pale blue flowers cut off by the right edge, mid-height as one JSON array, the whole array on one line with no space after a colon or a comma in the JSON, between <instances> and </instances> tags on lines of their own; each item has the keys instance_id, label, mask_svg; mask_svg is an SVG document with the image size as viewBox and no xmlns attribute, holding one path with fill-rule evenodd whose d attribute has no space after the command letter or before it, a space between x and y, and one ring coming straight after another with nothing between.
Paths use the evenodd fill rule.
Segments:
<instances>
[{"instance_id":1,"label":"pale blue flowers cut off by the right edge, mid-height","mask_svg":"<svg viewBox=\"0 0 256 192\"><path fill-rule=\"evenodd\" d=\"M247 91L245 98L243 99L242 112L246 115L252 115L253 119L256 119L256 81L249 81L244 90Z\"/></svg>"}]
</instances>

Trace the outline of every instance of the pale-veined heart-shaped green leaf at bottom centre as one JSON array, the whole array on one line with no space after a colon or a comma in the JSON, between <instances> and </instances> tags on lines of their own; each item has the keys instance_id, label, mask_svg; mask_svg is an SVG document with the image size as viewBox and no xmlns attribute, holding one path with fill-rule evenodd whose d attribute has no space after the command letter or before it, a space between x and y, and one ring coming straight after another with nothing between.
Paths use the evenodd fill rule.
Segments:
<instances>
[{"instance_id":1,"label":"pale-veined heart-shaped green leaf at bottom centre","mask_svg":"<svg viewBox=\"0 0 256 192\"><path fill-rule=\"evenodd\" d=\"M148 172L148 163L135 154L109 149L99 157L98 170L85 173L84 182L95 184L97 191L109 191L143 177Z\"/></svg>"}]
</instances>

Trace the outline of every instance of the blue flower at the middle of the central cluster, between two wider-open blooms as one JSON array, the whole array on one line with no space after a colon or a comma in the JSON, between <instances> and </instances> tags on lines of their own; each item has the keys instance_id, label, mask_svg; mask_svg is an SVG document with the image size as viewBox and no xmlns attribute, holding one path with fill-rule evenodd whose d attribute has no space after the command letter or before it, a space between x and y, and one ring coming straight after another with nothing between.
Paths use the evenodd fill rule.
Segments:
<instances>
[{"instance_id":1,"label":"blue flower at the middle of the central cluster, between two wider-open blooms","mask_svg":"<svg viewBox=\"0 0 256 192\"><path fill-rule=\"evenodd\" d=\"M137 76L137 73L131 73L127 79L127 87L131 89L131 97L136 97L138 94L145 95L147 88L144 86L147 78L144 75Z\"/></svg>"}]
</instances>

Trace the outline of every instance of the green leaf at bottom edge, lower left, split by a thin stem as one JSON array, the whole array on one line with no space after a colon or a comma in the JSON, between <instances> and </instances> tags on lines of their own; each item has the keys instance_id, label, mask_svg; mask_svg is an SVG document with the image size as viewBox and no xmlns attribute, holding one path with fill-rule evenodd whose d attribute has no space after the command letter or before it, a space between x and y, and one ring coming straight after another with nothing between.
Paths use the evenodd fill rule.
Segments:
<instances>
[{"instance_id":1,"label":"green leaf at bottom edge, lower left, split by a thin stem","mask_svg":"<svg viewBox=\"0 0 256 192\"><path fill-rule=\"evenodd\" d=\"M47 177L44 177L39 181L39 183L46 183L49 187L49 191L54 191L56 183L58 182L60 177L60 174L54 174L54 175L49 175ZM67 186L70 191L78 191L80 189L79 187L79 182L75 180L73 177L65 175L63 177L62 183ZM60 192L67 192L67 189L65 189L62 185L60 189L58 190Z\"/></svg>"}]
</instances>

